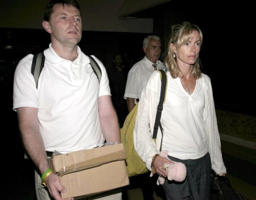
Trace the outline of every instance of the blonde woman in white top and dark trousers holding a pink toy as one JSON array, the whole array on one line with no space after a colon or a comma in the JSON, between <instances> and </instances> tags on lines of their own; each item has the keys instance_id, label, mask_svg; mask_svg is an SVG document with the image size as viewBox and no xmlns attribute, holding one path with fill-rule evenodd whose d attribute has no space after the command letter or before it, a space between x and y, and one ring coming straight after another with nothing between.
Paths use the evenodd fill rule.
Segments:
<instances>
[{"instance_id":1,"label":"blonde woman in white top and dark trousers holding a pink toy","mask_svg":"<svg viewBox=\"0 0 256 200\"><path fill-rule=\"evenodd\" d=\"M174 25L165 65L167 89L161 130L152 140L160 98L160 73L154 72L144 87L134 129L134 145L148 169L167 177L164 163L181 162L187 170L183 182L165 179L167 199L208 199L210 171L225 175L220 136L210 78L200 70L203 34L197 25ZM159 156L168 150L169 161Z\"/></svg>"}]
</instances>

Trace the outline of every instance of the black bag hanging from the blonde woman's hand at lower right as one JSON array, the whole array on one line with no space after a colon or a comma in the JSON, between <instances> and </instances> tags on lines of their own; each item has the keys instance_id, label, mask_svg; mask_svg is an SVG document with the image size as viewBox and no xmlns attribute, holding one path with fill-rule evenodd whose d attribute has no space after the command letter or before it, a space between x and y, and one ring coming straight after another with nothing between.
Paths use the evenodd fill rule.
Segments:
<instances>
[{"instance_id":1,"label":"black bag hanging from the blonde woman's hand at lower right","mask_svg":"<svg viewBox=\"0 0 256 200\"><path fill-rule=\"evenodd\" d=\"M220 176L212 170L210 179L210 200L246 200L238 191L232 188L226 176Z\"/></svg>"}]
</instances>

